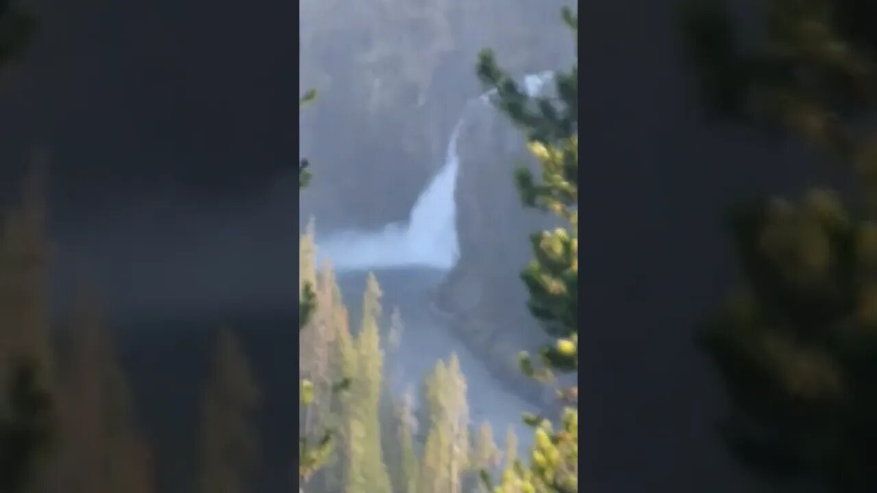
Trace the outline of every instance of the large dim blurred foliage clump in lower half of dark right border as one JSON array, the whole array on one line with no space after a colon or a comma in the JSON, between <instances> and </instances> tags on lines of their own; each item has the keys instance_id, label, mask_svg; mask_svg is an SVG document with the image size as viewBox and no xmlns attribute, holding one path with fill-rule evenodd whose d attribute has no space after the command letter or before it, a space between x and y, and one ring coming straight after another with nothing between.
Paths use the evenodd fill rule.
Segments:
<instances>
[{"instance_id":1,"label":"large dim blurred foliage clump in lower half of dark right border","mask_svg":"<svg viewBox=\"0 0 877 493\"><path fill-rule=\"evenodd\" d=\"M733 232L746 282L700 339L731 393L725 438L759 472L873 490L877 224L816 191L738 211Z\"/></svg>"}]
</instances>

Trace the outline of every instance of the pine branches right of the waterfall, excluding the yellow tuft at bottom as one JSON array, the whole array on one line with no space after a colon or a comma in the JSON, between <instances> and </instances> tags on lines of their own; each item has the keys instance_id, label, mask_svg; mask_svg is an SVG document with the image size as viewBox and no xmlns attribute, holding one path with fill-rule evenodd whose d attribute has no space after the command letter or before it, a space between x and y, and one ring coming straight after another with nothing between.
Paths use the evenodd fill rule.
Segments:
<instances>
[{"instance_id":1,"label":"pine branches right of the waterfall, excluding the yellow tuft at bottom","mask_svg":"<svg viewBox=\"0 0 877 493\"><path fill-rule=\"evenodd\" d=\"M563 19L575 33L578 17L564 9ZM516 171L524 204L550 211L568 223L568 229L531 235L534 261L521 277L530 292L529 307L545 330L563 338L545 347L542 357L550 367L574 371L578 367L578 66L554 73L553 96L527 96L503 72L488 50L478 64L481 82L495 89L494 103L526 132L537 158L541 180L529 168ZM527 368L524 361L524 368Z\"/></svg>"}]
</instances>

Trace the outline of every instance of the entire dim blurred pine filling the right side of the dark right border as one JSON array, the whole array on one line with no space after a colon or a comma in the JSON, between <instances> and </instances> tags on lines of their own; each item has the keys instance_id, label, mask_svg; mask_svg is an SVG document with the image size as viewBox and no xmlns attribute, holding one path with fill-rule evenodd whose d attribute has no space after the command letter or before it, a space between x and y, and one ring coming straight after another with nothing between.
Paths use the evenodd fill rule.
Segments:
<instances>
[{"instance_id":1,"label":"entire dim blurred pine filling the right side of the dark right border","mask_svg":"<svg viewBox=\"0 0 877 493\"><path fill-rule=\"evenodd\" d=\"M766 3L758 39L723 2L683 7L705 107L801 140L859 185L732 211L744 281L699 334L731 397L724 439L754 472L873 491L877 4Z\"/></svg>"}]
</instances>

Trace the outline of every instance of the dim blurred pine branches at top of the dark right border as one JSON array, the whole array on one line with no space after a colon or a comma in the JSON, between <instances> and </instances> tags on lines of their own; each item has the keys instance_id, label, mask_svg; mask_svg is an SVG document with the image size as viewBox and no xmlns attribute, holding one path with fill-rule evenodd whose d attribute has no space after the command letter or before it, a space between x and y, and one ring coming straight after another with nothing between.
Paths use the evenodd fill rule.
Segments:
<instances>
[{"instance_id":1,"label":"dim blurred pine branches at top of the dark right border","mask_svg":"<svg viewBox=\"0 0 877 493\"><path fill-rule=\"evenodd\" d=\"M873 139L852 119L877 104L877 3L752 2L756 37L742 39L723 0L683 0L688 62L706 108L755 125L794 130L852 158Z\"/></svg>"}]
</instances>

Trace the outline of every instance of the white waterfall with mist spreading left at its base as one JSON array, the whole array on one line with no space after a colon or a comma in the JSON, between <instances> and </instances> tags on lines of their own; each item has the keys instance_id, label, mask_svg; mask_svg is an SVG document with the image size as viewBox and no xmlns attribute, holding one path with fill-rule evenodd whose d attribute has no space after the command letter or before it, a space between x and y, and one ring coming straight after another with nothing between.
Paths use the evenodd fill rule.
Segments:
<instances>
[{"instance_id":1,"label":"white waterfall with mist spreading left at its base","mask_svg":"<svg viewBox=\"0 0 877 493\"><path fill-rule=\"evenodd\" d=\"M537 95L553 73L542 72L524 77L524 90ZM486 104L492 91L475 98L466 105L457 125L451 132L445 155L445 165L439 169L409 214L407 223L390 223L373 232L342 231L326 236L317 234L317 254L332 261L338 271L368 270L373 268L434 268L449 270L460 256L457 240L457 205L454 200L460 156L457 140L466 123L472 104Z\"/></svg>"}]
</instances>

